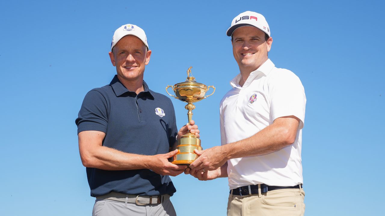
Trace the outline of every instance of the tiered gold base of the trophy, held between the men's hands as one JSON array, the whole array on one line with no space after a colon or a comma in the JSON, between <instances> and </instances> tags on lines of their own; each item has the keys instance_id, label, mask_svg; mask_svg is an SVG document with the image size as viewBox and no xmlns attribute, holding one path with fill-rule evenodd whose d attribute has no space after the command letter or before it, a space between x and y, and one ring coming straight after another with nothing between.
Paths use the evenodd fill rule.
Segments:
<instances>
[{"instance_id":1,"label":"tiered gold base of the trophy, held between the men's hands","mask_svg":"<svg viewBox=\"0 0 385 216\"><path fill-rule=\"evenodd\" d=\"M176 149L178 153L174 155L172 163L189 166L198 158L194 149L202 150L201 140L193 133L186 133L178 140Z\"/></svg>"}]
</instances>

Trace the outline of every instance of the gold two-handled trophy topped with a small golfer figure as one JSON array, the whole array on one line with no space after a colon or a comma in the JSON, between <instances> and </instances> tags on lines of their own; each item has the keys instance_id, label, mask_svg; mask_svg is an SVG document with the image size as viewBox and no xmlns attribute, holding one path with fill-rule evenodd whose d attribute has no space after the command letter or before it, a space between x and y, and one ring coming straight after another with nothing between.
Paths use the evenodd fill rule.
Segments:
<instances>
[{"instance_id":1,"label":"gold two-handled trophy topped with a small golfer figure","mask_svg":"<svg viewBox=\"0 0 385 216\"><path fill-rule=\"evenodd\" d=\"M191 122L192 110L195 109L195 106L192 103L208 98L208 96L213 95L215 92L214 86L211 85L207 87L202 83L197 83L194 76L191 75L191 68L192 67L187 70L186 81L182 83L177 83L174 86L167 85L166 87L167 94L176 99L187 102L187 105L184 106L184 108L188 110L187 117L189 119L189 124ZM176 96L168 93L167 89L170 87L172 88L172 91L174 91ZM210 87L213 88L213 93L204 96ZM172 161L172 163L188 166L198 158L198 155L194 153L194 149L202 150L201 140L199 140L199 138L195 134L190 133L190 131L187 131L185 135L178 138L178 145L176 146L176 148L178 150L178 153L174 155L174 160Z\"/></svg>"}]
</instances>

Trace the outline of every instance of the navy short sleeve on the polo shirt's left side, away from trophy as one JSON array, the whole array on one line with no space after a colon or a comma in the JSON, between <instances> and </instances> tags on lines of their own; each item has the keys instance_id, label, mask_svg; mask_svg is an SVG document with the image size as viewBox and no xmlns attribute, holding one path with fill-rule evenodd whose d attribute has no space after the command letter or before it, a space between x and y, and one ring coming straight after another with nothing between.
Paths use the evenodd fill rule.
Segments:
<instances>
[{"instance_id":1,"label":"navy short sleeve on the polo shirt's left side, away from trophy","mask_svg":"<svg viewBox=\"0 0 385 216\"><path fill-rule=\"evenodd\" d=\"M85 95L78 118L75 120L77 133L81 131L102 131L107 133L107 100L96 90Z\"/></svg>"}]
</instances>

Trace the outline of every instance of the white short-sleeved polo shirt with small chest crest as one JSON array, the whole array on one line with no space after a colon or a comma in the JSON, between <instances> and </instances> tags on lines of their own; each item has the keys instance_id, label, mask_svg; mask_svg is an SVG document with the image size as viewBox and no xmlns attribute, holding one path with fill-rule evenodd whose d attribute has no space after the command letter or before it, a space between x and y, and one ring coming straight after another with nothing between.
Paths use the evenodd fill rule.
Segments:
<instances>
[{"instance_id":1,"label":"white short-sleeved polo shirt with small chest crest","mask_svg":"<svg viewBox=\"0 0 385 216\"><path fill-rule=\"evenodd\" d=\"M241 87L238 74L220 105L221 143L244 140L273 124L276 118L294 115L300 126L292 145L260 156L228 160L230 189L250 184L295 186L303 183L301 164L302 128L306 96L298 76L276 68L268 59L250 73Z\"/></svg>"}]
</instances>

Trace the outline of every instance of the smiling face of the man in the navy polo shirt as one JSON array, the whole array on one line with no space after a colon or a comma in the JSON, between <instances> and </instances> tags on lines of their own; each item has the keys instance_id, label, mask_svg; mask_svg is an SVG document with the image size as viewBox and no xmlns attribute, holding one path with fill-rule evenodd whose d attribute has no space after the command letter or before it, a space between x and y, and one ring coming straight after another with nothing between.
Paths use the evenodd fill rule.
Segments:
<instances>
[{"instance_id":1,"label":"smiling face of the man in the navy polo shirt","mask_svg":"<svg viewBox=\"0 0 385 216\"><path fill-rule=\"evenodd\" d=\"M134 35L124 36L109 55L122 83L142 83L144 68L150 61L151 50L147 51L146 45L139 38Z\"/></svg>"}]
</instances>

